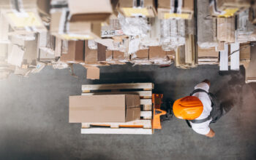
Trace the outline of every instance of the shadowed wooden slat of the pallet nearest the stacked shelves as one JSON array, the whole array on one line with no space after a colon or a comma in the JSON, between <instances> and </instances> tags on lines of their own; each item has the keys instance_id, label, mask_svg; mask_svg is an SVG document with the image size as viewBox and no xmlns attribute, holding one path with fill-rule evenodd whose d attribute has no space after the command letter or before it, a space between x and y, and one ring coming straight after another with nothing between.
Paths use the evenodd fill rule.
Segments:
<instances>
[{"instance_id":1,"label":"shadowed wooden slat of the pallet nearest the stacked shelves","mask_svg":"<svg viewBox=\"0 0 256 160\"><path fill-rule=\"evenodd\" d=\"M135 84L89 84L82 85L82 91L86 90L104 90L104 89L154 89L152 83Z\"/></svg>"}]
</instances>

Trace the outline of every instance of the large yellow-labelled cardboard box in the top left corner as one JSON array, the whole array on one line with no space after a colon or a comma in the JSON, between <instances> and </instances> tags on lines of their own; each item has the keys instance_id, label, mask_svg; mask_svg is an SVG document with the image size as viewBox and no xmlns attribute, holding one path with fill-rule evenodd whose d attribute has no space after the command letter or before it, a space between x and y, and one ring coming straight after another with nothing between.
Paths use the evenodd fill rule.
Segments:
<instances>
[{"instance_id":1,"label":"large yellow-labelled cardboard box in the top left corner","mask_svg":"<svg viewBox=\"0 0 256 160\"><path fill-rule=\"evenodd\" d=\"M38 2L38 4L37 4ZM9 1L1 0L0 8L6 17L8 23L16 33L36 33L47 31L42 23L40 13L46 13L47 7L43 5L50 4L49 0L22 0ZM46 9L46 10L45 10Z\"/></svg>"}]
</instances>

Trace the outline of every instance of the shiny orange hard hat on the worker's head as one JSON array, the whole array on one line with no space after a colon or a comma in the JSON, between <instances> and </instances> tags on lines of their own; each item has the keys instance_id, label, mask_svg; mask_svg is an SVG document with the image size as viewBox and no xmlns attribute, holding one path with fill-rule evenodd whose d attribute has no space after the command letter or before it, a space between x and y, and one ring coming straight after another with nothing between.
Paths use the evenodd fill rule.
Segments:
<instances>
[{"instance_id":1,"label":"shiny orange hard hat on the worker's head","mask_svg":"<svg viewBox=\"0 0 256 160\"><path fill-rule=\"evenodd\" d=\"M183 97L173 104L173 113L178 119L196 119L202 112L203 103L195 96Z\"/></svg>"}]
</instances>

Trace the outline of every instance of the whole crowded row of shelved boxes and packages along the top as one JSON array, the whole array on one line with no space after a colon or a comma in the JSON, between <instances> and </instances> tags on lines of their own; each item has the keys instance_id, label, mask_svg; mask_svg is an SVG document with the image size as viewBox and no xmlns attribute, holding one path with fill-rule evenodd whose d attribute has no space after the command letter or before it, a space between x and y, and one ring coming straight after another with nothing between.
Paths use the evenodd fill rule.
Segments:
<instances>
[{"instance_id":1,"label":"whole crowded row of shelved boxes and packages along the top","mask_svg":"<svg viewBox=\"0 0 256 160\"><path fill-rule=\"evenodd\" d=\"M254 8L250 0L4 0L1 79L72 64L90 79L99 66L126 63L239 70L256 40Z\"/></svg>"}]
</instances>

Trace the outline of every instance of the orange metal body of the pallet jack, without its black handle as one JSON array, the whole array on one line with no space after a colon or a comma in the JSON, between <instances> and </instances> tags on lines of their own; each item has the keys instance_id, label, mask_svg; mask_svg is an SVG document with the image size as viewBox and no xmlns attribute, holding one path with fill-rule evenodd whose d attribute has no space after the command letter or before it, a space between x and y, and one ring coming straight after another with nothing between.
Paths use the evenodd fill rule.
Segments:
<instances>
[{"instance_id":1,"label":"orange metal body of the pallet jack, without its black handle","mask_svg":"<svg viewBox=\"0 0 256 160\"><path fill-rule=\"evenodd\" d=\"M161 110L163 100L163 94L152 94L152 104L153 104L153 119L152 119L152 129L162 129L160 116L166 115L167 112Z\"/></svg>"}]
</instances>

